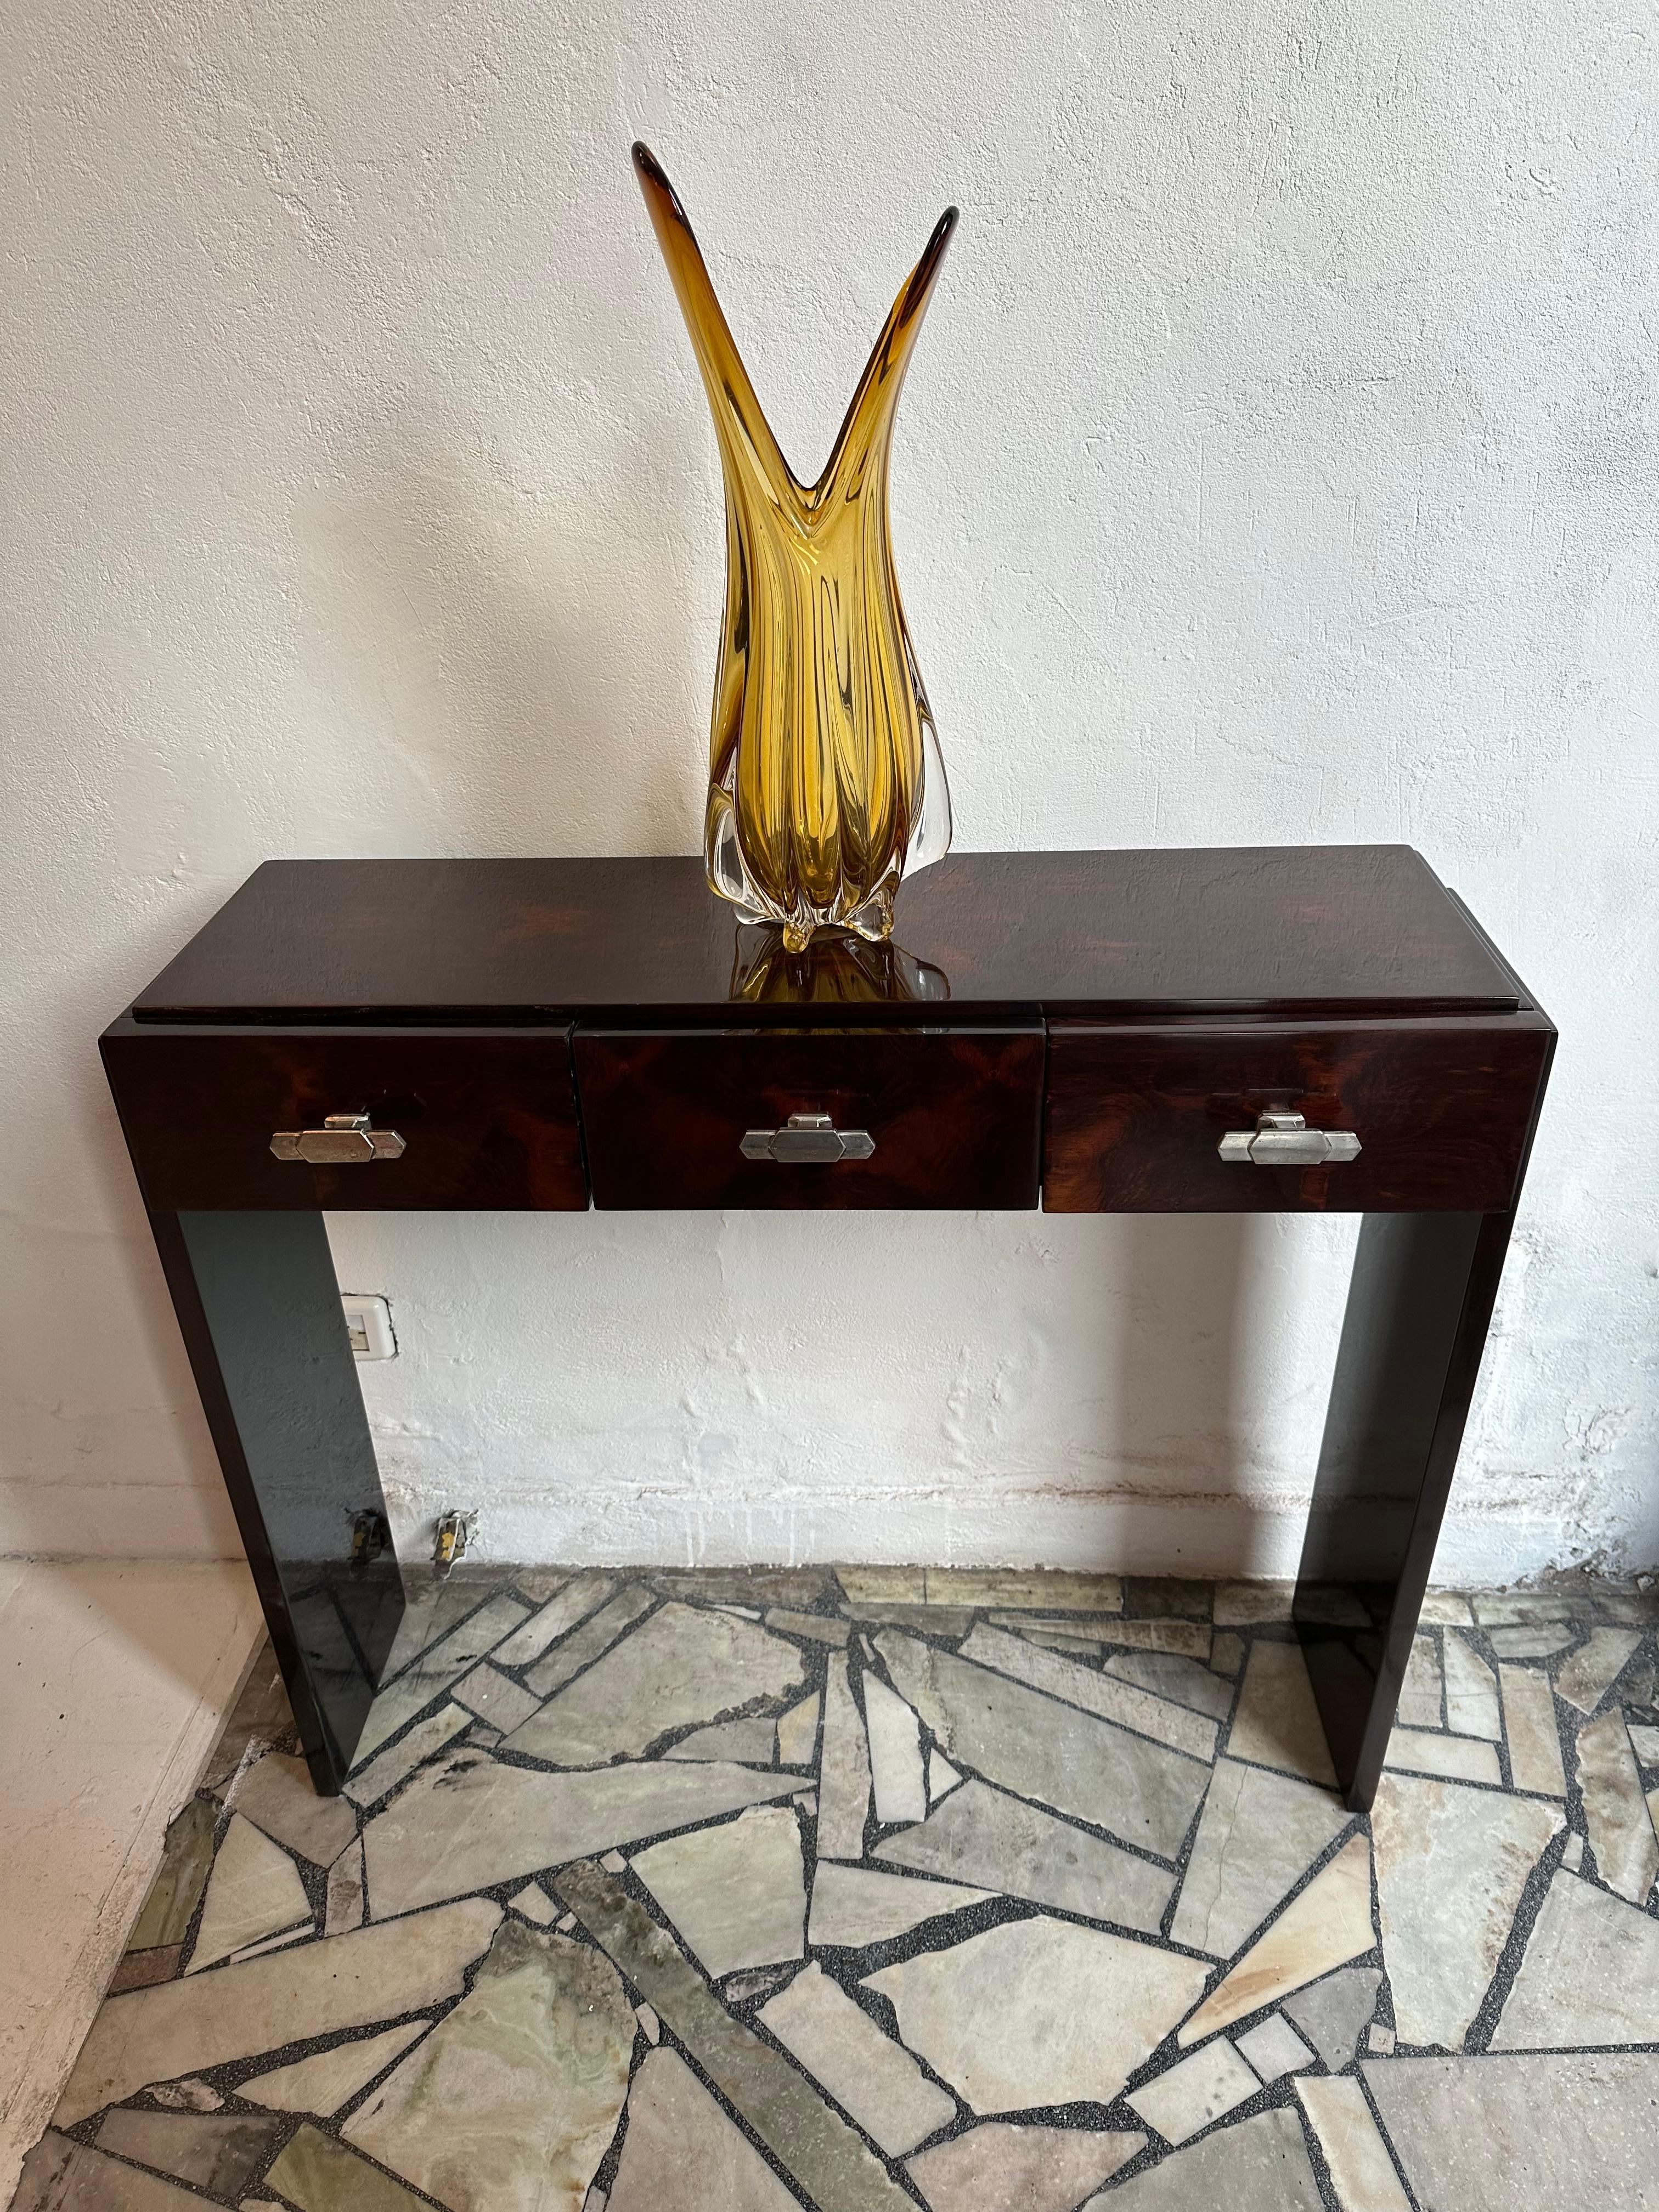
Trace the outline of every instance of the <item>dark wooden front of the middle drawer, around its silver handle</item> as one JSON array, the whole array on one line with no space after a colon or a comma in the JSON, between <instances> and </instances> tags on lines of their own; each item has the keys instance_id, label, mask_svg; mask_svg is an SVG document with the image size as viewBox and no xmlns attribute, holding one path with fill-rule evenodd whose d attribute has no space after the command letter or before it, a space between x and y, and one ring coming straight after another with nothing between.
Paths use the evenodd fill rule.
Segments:
<instances>
[{"instance_id":1,"label":"dark wooden front of the middle drawer, around its silver handle","mask_svg":"<svg viewBox=\"0 0 1659 2212\"><path fill-rule=\"evenodd\" d=\"M1037 1203L1042 1022L995 1029L577 1029L593 1203ZM743 1137L830 1115L869 1157L752 1159Z\"/></svg>"}]
</instances>

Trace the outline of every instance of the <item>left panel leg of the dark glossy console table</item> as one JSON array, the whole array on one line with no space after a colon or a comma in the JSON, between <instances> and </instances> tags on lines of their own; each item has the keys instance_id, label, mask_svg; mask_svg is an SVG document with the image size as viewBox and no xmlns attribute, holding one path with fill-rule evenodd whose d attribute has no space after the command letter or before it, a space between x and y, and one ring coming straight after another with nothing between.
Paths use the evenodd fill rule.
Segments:
<instances>
[{"instance_id":1,"label":"left panel leg of the dark glossy console table","mask_svg":"<svg viewBox=\"0 0 1659 2212\"><path fill-rule=\"evenodd\" d=\"M403 1584L321 1214L153 1212L312 1781L338 1792ZM361 1515L367 1544L352 1557Z\"/></svg>"}]
</instances>

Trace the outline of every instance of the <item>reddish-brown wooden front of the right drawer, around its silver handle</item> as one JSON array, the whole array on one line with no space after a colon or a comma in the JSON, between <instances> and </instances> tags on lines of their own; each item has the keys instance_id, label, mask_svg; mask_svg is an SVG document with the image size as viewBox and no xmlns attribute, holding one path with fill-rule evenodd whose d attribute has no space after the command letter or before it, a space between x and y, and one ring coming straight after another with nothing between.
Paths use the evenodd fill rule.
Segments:
<instances>
[{"instance_id":1,"label":"reddish-brown wooden front of the right drawer, around its silver handle","mask_svg":"<svg viewBox=\"0 0 1659 2212\"><path fill-rule=\"evenodd\" d=\"M1502 1212L1555 1042L1540 1013L1425 1022L1055 1022L1042 1203L1091 1212ZM1223 1161L1265 1108L1352 1130L1356 1159Z\"/></svg>"}]
</instances>

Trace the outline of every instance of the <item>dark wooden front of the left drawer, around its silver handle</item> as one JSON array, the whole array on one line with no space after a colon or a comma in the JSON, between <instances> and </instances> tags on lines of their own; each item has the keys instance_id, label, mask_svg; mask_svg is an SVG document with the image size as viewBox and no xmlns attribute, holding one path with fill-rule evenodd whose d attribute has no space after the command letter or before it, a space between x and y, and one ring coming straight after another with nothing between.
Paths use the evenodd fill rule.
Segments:
<instances>
[{"instance_id":1,"label":"dark wooden front of the left drawer, around its silver handle","mask_svg":"<svg viewBox=\"0 0 1659 2212\"><path fill-rule=\"evenodd\" d=\"M144 1197L161 1210L588 1203L568 1029L292 1031L117 1022L104 1035ZM274 1159L276 1130L367 1113L398 1159Z\"/></svg>"}]
</instances>

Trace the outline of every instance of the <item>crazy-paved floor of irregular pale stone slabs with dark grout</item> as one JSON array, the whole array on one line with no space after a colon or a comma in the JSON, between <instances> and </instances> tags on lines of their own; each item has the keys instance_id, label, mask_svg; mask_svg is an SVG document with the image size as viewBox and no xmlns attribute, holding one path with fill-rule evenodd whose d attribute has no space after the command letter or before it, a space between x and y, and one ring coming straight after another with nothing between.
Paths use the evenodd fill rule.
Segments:
<instances>
[{"instance_id":1,"label":"crazy-paved floor of irregular pale stone slabs with dark grout","mask_svg":"<svg viewBox=\"0 0 1659 2212\"><path fill-rule=\"evenodd\" d=\"M332 1801L265 1652L13 2208L1659 2205L1659 1593L1433 1595L1371 1820L1285 1615L456 1577Z\"/></svg>"}]
</instances>

